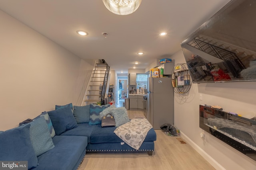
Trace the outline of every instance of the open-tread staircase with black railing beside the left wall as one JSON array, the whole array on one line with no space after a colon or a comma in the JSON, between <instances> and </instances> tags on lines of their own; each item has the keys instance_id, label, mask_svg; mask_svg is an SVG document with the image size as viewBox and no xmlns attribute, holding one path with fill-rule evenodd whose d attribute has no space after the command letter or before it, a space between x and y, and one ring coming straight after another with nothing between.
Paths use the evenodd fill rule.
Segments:
<instances>
[{"instance_id":1,"label":"open-tread staircase with black railing beside the left wall","mask_svg":"<svg viewBox=\"0 0 256 170\"><path fill-rule=\"evenodd\" d=\"M106 87L108 84L108 75L110 66L104 61L96 63L92 70L89 86L84 96L84 104L104 104L107 96Z\"/></svg>"}]
</instances>

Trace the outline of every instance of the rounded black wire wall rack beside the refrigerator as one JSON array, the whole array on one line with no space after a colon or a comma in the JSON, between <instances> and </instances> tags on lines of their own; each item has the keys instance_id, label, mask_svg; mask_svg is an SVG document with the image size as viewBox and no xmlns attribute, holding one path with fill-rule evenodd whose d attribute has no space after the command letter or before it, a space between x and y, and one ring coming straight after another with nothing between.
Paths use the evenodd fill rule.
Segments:
<instances>
[{"instance_id":1,"label":"rounded black wire wall rack beside the refrigerator","mask_svg":"<svg viewBox=\"0 0 256 170\"><path fill-rule=\"evenodd\" d=\"M176 64L172 69L172 87L175 93L186 93L190 90L192 81L186 63Z\"/></svg>"}]
</instances>

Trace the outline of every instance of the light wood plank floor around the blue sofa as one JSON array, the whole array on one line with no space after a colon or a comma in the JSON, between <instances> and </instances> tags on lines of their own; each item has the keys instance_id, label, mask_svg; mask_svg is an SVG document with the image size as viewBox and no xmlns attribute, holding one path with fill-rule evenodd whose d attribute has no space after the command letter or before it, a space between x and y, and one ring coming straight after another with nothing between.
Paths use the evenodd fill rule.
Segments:
<instances>
[{"instance_id":1,"label":"light wood plank floor around the blue sofa","mask_svg":"<svg viewBox=\"0 0 256 170\"><path fill-rule=\"evenodd\" d=\"M128 110L130 119L143 111ZM155 149L147 153L88 152L78 170L215 170L190 145L156 130ZM183 139L182 139L183 140ZM183 140L184 141L184 140ZM186 142L186 141L185 141Z\"/></svg>"}]
</instances>

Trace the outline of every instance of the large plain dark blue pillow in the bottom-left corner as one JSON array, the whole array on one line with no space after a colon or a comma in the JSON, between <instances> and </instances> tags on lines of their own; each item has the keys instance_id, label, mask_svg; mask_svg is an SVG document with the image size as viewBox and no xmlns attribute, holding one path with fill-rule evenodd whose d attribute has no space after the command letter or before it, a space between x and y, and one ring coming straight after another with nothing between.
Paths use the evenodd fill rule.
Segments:
<instances>
[{"instance_id":1,"label":"large plain dark blue pillow in the bottom-left corner","mask_svg":"<svg viewBox=\"0 0 256 170\"><path fill-rule=\"evenodd\" d=\"M1 161L28 161L28 169L37 166L37 157L30 140L30 124L0 133Z\"/></svg>"}]
</instances>

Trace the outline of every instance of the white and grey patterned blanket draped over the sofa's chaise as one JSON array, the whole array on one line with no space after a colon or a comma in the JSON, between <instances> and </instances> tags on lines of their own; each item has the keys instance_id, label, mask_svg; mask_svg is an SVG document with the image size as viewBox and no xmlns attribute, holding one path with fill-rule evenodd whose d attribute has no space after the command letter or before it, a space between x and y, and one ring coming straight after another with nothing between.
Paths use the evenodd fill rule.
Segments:
<instances>
[{"instance_id":1,"label":"white and grey patterned blanket draped over the sofa's chaise","mask_svg":"<svg viewBox=\"0 0 256 170\"><path fill-rule=\"evenodd\" d=\"M114 133L130 147L138 150L151 128L152 125L146 118L132 119L128 123L117 127Z\"/></svg>"}]
</instances>

